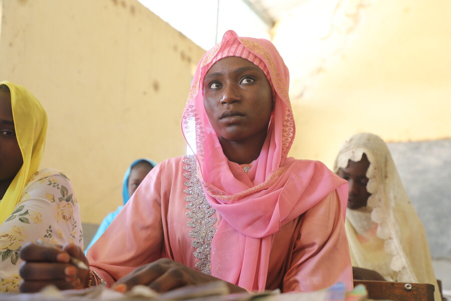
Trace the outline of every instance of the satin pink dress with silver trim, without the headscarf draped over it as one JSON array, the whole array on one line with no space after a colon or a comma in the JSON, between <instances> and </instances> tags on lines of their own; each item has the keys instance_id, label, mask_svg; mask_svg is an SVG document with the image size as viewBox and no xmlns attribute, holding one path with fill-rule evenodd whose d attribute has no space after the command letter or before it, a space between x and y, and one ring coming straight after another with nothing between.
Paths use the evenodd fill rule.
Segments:
<instances>
[{"instance_id":1,"label":"satin pink dress with silver trim, without the headscarf draped over it","mask_svg":"<svg viewBox=\"0 0 451 301\"><path fill-rule=\"evenodd\" d=\"M223 250L220 244L211 249L221 216L206 201L194 167L192 157L172 158L157 165L89 249L91 268L108 286L135 268L162 257L204 272L219 271L215 276L230 280L228 274L220 274L224 267L210 263L210 250L212 255ZM267 289L312 291L339 281L352 288L349 248L337 190L282 225L278 232L269 235L269 241ZM243 243L246 242L235 241L237 248ZM219 255L228 262L227 253ZM229 265L242 264L230 259ZM238 284L240 279L234 282ZM255 286L245 288L252 290Z\"/></svg>"}]
</instances>

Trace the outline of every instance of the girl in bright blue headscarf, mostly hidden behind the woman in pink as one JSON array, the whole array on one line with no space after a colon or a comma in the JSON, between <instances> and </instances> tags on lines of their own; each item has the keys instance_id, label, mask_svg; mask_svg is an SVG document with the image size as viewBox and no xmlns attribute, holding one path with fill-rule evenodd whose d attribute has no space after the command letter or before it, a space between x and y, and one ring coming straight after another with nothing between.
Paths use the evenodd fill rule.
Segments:
<instances>
[{"instance_id":1,"label":"girl in bright blue headscarf, mostly hidden behind the woman in pink","mask_svg":"<svg viewBox=\"0 0 451 301\"><path fill-rule=\"evenodd\" d=\"M124 205L128 202L130 197L138 188L139 184L141 184L142 180L144 180L144 178L152 170L152 168L155 167L155 165L155 162L148 159L138 159L130 165L130 167L125 172L124 180L122 183L122 201L124 202ZM119 214L122 208L124 208L124 205L118 206L116 211L110 212L103 219L102 223L97 229L96 234L86 248L85 254L89 250L89 248L99 239L99 237L102 236L106 228L108 228L114 218Z\"/></svg>"}]
</instances>

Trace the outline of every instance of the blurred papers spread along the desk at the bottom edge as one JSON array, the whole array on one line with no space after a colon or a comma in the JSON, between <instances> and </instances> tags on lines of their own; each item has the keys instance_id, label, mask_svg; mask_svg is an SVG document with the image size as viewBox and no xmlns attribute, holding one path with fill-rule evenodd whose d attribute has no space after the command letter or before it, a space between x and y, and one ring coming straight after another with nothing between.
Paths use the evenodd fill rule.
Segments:
<instances>
[{"instance_id":1,"label":"blurred papers spread along the desk at the bottom edge","mask_svg":"<svg viewBox=\"0 0 451 301\"><path fill-rule=\"evenodd\" d=\"M120 293L109 288L91 287L78 290L60 291L47 287L39 293L0 294L2 301L86 301L86 300L158 300L158 301L362 301L366 300L363 285L347 292L343 283L337 283L327 289L313 292L230 294L223 282L209 282L197 286L186 286L158 294L147 286L137 285L127 293Z\"/></svg>"}]
</instances>

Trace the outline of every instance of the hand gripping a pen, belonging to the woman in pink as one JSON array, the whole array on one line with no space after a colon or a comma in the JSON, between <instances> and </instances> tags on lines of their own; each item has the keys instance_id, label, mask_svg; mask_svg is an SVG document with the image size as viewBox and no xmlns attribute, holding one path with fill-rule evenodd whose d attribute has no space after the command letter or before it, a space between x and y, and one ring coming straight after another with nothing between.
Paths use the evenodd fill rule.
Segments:
<instances>
[{"instance_id":1,"label":"hand gripping a pen, belonging to the woman in pink","mask_svg":"<svg viewBox=\"0 0 451 301\"><path fill-rule=\"evenodd\" d=\"M19 288L21 292L37 292L49 284L59 289L84 288L87 285L89 271L70 263L70 256L80 259L86 265L83 251L73 243L62 249L29 243L21 250L21 258L25 261L19 273L24 279Z\"/></svg>"}]
</instances>

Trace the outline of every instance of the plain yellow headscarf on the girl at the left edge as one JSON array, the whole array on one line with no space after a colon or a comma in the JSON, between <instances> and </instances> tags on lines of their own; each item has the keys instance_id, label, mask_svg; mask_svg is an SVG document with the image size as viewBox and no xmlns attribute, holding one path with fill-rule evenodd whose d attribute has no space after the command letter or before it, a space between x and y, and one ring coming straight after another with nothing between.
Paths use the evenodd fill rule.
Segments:
<instances>
[{"instance_id":1,"label":"plain yellow headscarf on the girl at the left edge","mask_svg":"<svg viewBox=\"0 0 451 301\"><path fill-rule=\"evenodd\" d=\"M0 224L13 213L29 179L41 164L46 143L47 114L39 100L26 88L2 81L11 91L14 127L24 164L0 202Z\"/></svg>"}]
</instances>

